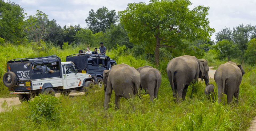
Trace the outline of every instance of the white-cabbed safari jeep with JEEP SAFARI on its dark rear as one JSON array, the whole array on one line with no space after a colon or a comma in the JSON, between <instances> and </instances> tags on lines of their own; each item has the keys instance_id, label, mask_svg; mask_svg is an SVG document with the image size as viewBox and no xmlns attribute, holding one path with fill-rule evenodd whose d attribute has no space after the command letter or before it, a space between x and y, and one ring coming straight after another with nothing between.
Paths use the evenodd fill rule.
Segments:
<instances>
[{"instance_id":1,"label":"white-cabbed safari jeep with JEEP SAFARI on its dark rear","mask_svg":"<svg viewBox=\"0 0 256 131\"><path fill-rule=\"evenodd\" d=\"M9 60L3 75L3 84L13 91L10 94L18 94L20 101L40 93L69 95L72 90L87 91L85 87L93 82L90 74L78 73L73 63L61 62L56 55Z\"/></svg>"}]
</instances>

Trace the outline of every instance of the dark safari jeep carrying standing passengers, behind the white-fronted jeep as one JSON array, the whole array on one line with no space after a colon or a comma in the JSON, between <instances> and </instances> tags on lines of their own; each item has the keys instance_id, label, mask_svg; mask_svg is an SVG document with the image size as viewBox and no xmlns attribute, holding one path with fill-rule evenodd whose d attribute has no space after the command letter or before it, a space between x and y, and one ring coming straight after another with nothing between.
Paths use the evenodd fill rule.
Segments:
<instances>
[{"instance_id":1,"label":"dark safari jeep carrying standing passengers, behind the white-fronted jeep","mask_svg":"<svg viewBox=\"0 0 256 131\"><path fill-rule=\"evenodd\" d=\"M99 87L103 84L103 71L110 70L117 64L109 56L94 54L72 54L66 56L66 62L73 62L78 72L90 74L94 79L94 84L98 84Z\"/></svg>"}]
</instances>

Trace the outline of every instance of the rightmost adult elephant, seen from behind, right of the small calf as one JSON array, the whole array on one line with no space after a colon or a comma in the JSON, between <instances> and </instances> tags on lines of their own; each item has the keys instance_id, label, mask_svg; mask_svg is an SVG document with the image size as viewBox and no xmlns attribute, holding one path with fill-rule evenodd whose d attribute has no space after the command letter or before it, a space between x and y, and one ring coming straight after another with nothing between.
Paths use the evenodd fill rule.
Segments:
<instances>
[{"instance_id":1,"label":"rightmost adult elephant, seen from behind, right of the small calf","mask_svg":"<svg viewBox=\"0 0 256 131\"><path fill-rule=\"evenodd\" d=\"M238 99L239 85L245 73L241 65L234 62L221 64L214 74L214 80L218 88L218 103L223 100L223 95L227 95L227 103L230 103L233 96Z\"/></svg>"}]
</instances>

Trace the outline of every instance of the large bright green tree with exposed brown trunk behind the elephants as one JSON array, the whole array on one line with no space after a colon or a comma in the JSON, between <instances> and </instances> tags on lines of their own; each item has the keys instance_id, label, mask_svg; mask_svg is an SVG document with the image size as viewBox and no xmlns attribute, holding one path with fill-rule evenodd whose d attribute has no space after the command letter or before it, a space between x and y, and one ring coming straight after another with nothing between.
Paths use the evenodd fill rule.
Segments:
<instances>
[{"instance_id":1,"label":"large bright green tree with exposed brown trunk behind the elephants","mask_svg":"<svg viewBox=\"0 0 256 131\"><path fill-rule=\"evenodd\" d=\"M118 13L121 24L129 32L130 42L146 42L145 50L155 53L158 66L160 46L182 49L182 39L206 40L215 31L206 18L209 7L196 6L189 10L190 5L189 0L151 0L149 4L130 3Z\"/></svg>"}]
</instances>

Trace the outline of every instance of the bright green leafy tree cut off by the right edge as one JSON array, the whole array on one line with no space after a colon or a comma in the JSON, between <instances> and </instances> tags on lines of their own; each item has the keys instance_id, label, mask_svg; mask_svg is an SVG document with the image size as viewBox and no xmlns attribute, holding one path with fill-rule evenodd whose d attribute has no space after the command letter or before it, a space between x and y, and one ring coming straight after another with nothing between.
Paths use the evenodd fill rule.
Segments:
<instances>
[{"instance_id":1,"label":"bright green leafy tree cut off by the right edge","mask_svg":"<svg viewBox=\"0 0 256 131\"><path fill-rule=\"evenodd\" d=\"M244 54L245 62L256 64L256 39L253 38L247 43L247 50Z\"/></svg>"}]
</instances>

